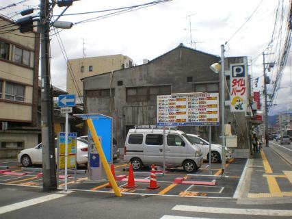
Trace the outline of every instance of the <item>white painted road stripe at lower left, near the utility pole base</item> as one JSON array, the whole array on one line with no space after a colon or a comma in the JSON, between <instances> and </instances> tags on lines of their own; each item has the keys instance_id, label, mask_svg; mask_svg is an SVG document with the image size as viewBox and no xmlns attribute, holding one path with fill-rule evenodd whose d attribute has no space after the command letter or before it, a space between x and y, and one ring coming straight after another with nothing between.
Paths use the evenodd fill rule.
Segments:
<instances>
[{"instance_id":1,"label":"white painted road stripe at lower left, near the utility pole base","mask_svg":"<svg viewBox=\"0 0 292 219\"><path fill-rule=\"evenodd\" d=\"M39 203L44 203L46 201L51 201L53 199L61 198L63 196L66 196L66 194L55 193L55 194L49 194L47 196L42 196L42 197L39 197L39 198L33 198L33 199L30 199L30 200L27 200L27 201L21 201L20 203L14 203L12 205L6 205L6 206L3 206L3 207L0 207L0 214L5 214L5 213L8 213L10 211L15 211L17 209L22 209L24 207L29 207L31 205L37 205Z\"/></svg>"}]
</instances>

